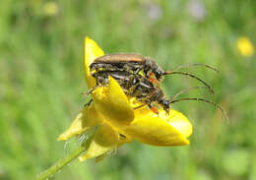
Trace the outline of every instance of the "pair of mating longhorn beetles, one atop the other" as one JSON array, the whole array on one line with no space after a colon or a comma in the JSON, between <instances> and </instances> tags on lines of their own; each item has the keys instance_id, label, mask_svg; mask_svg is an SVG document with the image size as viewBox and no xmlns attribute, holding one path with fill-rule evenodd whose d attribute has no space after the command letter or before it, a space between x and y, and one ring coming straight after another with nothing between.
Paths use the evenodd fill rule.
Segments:
<instances>
[{"instance_id":1,"label":"pair of mating longhorn beetles, one atop the other","mask_svg":"<svg viewBox=\"0 0 256 180\"><path fill-rule=\"evenodd\" d=\"M96 86L87 91L86 94L94 92L94 90L99 87L107 86L108 77L110 76L120 85L126 95L136 97L138 101L142 102L142 105L139 105L135 108L148 105L153 112L158 114L158 105L160 104L165 112L168 113L169 105L171 103L183 100L200 100L215 105L224 113L224 109L220 105L205 98L176 99L179 94L193 89L204 88L208 89L211 93L214 93L214 90L212 90L212 88L206 82L196 77L195 75L176 71L181 68L191 66L203 66L219 72L217 69L209 65L199 63L179 66L171 71L163 71L153 59L144 57L140 54L120 53L103 55L97 57L96 60L90 65L91 75L96 79ZM181 90L171 99L167 99L163 91L160 89L160 82L163 80L165 75L175 74L194 78L200 81L204 87L192 87L189 89ZM88 104L90 104L92 101L93 100L90 100Z\"/></svg>"}]
</instances>

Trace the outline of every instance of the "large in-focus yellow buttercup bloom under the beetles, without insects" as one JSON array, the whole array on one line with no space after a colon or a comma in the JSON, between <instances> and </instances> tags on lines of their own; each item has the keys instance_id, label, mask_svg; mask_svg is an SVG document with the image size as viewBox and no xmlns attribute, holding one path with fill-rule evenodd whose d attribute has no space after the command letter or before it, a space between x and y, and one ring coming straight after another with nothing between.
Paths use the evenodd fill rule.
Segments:
<instances>
[{"instance_id":1,"label":"large in-focus yellow buttercup bloom under the beetles, without insects","mask_svg":"<svg viewBox=\"0 0 256 180\"><path fill-rule=\"evenodd\" d=\"M93 39L85 38L85 78L89 88L96 86L89 66L103 54ZM80 160L103 156L132 140L162 147L189 145L187 138L192 134L192 125L184 115L172 109L168 115L162 109L159 115L147 107L134 110L137 100L128 98L113 78L108 79L107 87L93 92L94 104L82 109L58 138L66 141L97 125L99 128L90 148L80 156Z\"/></svg>"}]
</instances>

